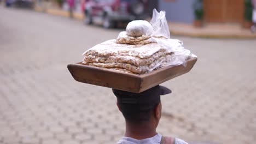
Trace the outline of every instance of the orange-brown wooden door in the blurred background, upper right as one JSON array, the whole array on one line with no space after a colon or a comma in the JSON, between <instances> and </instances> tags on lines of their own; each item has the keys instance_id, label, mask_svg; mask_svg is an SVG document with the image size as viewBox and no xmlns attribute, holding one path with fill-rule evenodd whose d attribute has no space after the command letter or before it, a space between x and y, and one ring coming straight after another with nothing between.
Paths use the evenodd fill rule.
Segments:
<instances>
[{"instance_id":1,"label":"orange-brown wooden door in the blurred background, upper right","mask_svg":"<svg viewBox=\"0 0 256 144\"><path fill-rule=\"evenodd\" d=\"M244 0L204 0L206 22L242 22Z\"/></svg>"}]
</instances>

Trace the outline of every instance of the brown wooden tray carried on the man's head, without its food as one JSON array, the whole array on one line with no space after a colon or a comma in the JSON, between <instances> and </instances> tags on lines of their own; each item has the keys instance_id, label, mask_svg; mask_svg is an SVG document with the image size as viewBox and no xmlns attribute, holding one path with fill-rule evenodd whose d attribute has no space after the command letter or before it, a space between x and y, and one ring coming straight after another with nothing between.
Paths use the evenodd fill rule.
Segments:
<instances>
[{"instance_id":1,"label":"brown wooden tray carried on the man's head, without its food","mask_svg":"<svg viewBox=\"0 0 256 144\"><path fill-rule=\"evenodd\" d=\"M84 65L81 64L82 62L68 64L67 67L76 81L139 93L174 77L188 73L196 61L197 58L190 58L187 61L187 67L183 65L168 66L141 75Z\"/></svg>"}]
</instances>

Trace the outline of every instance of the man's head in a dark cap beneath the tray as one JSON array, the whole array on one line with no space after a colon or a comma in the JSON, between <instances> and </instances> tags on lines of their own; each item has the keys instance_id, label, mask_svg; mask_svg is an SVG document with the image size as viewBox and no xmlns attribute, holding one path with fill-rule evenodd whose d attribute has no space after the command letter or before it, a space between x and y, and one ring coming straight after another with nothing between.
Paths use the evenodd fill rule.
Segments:
<instances>
[{"instance_id":1,"label":"man's head in a dark cap beneath the tray","mask_svg":"<svg viewBox=\"0 0 256 144\"><path fill-rule=\"evenodd\" d=\"M113 93L126 122L139 124L154 120L157 125L161 117L160 95L171 93L171 90L158 85L141 93L118 89L113 89Z\"/></svg>"}]
</instances>

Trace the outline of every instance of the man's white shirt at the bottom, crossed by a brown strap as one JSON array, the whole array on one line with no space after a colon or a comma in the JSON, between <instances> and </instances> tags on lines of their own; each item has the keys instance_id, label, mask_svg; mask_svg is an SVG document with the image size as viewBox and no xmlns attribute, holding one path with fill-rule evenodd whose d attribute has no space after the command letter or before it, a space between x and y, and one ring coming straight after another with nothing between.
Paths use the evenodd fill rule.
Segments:
<instances>
[{"instance_id":1,"label":"man's white shirt at the bottom, crossed by a brown strap","mask_svg":"<svg viewBox=\"0 0 256 144\"><path fill-rule=\"evenodd\" d=\"M150 137L148 139L143 140L136 140L131 137L123 137L120 141L118 141L117 144L159 144L161 142L161 134L157 134L153 137ZM175 138L175 144L188 144L187 142Z\"/></svg>"}]
</instances>

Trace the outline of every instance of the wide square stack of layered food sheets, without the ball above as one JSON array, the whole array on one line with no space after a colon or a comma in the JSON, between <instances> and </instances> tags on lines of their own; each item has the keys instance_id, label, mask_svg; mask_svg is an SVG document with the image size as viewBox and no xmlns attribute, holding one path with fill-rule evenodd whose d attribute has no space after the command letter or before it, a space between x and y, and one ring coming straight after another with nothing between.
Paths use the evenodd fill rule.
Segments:
<instances>
[{"instance_id":1,"label":"wide square stack of layered food sheets, without the ball above","mask_svg":"<svg viewBox=\"0 0 256 144\"><path fill-rule=\"evenodd\" d=\"M103 68L122 68L143 74L159 67L161 62L170 61L173 53L166 50L157 43L124 45L115 43L113 39L85 51L83 63Z\"/></svg>"}]
</instances>

